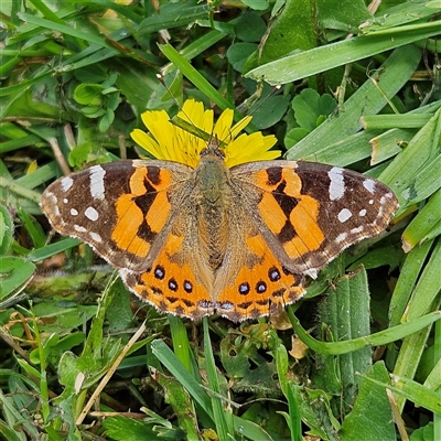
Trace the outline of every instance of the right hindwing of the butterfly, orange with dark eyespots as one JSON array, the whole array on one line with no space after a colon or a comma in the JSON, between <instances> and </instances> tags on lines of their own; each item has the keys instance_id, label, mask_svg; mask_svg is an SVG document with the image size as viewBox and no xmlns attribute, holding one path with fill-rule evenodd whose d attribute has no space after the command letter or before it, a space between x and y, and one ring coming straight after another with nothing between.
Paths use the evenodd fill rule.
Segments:
<instances>
[{"instance_id":1,"label":"right hindwing of the butterfly, orange with dark eyespots","mask_svg":"<svg viewBox=\"0 0 441 441\"><path fill-rule=\"evenodd\" d=\"M275 313L305 293L303 275L292 273L275 256L252 218L235 205L224 265L216 272L214 298L219 314L234 322Z\"/></svg>"}]
</instances>

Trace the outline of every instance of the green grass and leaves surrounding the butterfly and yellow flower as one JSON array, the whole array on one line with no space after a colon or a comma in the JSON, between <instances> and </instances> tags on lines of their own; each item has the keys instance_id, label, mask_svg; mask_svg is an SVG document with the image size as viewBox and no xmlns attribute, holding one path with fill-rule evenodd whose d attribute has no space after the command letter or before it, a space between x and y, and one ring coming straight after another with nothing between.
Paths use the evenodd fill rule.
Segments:
<instances>
[{"instance_id":1,"label":"green grass and leaves surrounding the butterfly and yellow flower","mask_svg":"<svg viewBox=\"0 0 441 441\"><path fill-rule=\"evenodd\" d=\"M1 2L0 438L441 439L439 2L220 3ZM141 304L39 202L189 97L380 179L395 223L278 320Z\"/></svg>"}]
</instances>

